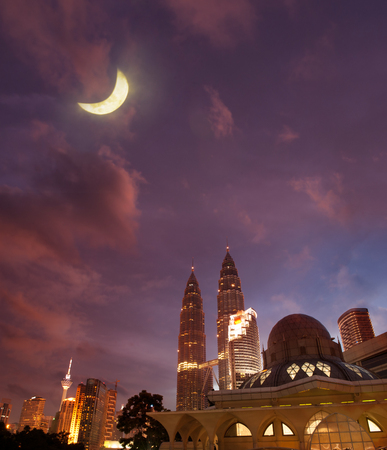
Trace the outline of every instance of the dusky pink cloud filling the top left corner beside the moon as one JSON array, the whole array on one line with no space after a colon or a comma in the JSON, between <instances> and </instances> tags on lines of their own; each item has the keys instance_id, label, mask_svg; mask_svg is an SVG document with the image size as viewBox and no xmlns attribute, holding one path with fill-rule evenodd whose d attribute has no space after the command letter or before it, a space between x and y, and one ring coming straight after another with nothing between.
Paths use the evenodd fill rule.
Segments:
<instances>
[{"instance_id":1,"label":"dusky pink cloud filling the top left corner beside the moon","mask_svg":"<svg viewBox=\"0 0 387 450\"><path fill-rule=\"evenodd\" d=\"M25 62L60 90L80 81L85 94L109 89L111 44L101 38L104 13L91 0L13 0L1 2L2 28ZM106 36L106 33L104 34Z\"/></svg>"}]
</instances>

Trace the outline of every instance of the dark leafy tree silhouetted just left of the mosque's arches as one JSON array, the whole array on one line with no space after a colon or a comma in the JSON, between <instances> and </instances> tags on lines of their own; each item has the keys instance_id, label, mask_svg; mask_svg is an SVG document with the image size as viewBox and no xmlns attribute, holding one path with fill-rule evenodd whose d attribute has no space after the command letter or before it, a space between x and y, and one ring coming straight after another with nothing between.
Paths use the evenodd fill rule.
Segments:
<instances>
[{"instance_id":1,"label":"dark leafy tree silhouetted just left of the mosque's arches","mask_svg":"<svg viewBox=\"0 0 387 450\"><path fill-rule=\"evenodd\" d=\"M169 440L161 423L147 414L153 411L167 411L162 395L141 391L128 400L117 423L117 428L128 435L120 439L124 448L129 445L131 450L157 450L162 442Z\"/></svg>"}]
</instances>

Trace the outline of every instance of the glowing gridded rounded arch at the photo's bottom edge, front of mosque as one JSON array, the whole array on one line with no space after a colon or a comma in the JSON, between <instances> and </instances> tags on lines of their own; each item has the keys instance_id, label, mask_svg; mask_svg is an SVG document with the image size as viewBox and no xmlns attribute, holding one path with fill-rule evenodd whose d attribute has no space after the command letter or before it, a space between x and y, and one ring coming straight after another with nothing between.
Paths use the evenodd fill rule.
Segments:
<instances>
[{"instance_id":1,"label":"glowing gridded rounded arch at the photo's bottom edge, front of mosque","mask_svg":"<svg viewBox=\"0 0 387 450\"><path fill-rule=\"evenodd\" d=\"M368 450L375 447L369 434L355 420L344 414L333 413L317 425L310 438L309 448Z\"/></svg>"}]
</instances>

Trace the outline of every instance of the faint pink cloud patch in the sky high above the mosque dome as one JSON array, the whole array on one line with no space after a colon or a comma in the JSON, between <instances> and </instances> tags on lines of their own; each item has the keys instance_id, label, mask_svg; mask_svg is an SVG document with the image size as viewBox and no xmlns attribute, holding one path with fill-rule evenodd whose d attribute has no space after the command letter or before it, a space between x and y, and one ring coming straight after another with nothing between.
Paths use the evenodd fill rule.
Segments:
<instances>
[{"instance_id":1,"label":"faint pink cloud patch in the sky high above the mosque dome","mask_svg":"<svg viewBox=\"0 0 387 450\"><path fill-rule=\"evenodd\" d=\"M340 222L348 218L348 208L342 198L343 188L341 176L335 174L331 180L331 188L324 187L322 177L305 177L292 180L290 185L296 192L304 192L315 203L318 210L331 219Z\"/></svg>"}]
</instances>

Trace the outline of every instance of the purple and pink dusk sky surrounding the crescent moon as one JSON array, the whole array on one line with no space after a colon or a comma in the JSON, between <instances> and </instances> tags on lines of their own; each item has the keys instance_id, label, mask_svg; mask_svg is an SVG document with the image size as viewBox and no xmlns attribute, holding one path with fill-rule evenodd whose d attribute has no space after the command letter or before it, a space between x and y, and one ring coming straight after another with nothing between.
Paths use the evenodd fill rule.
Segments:
<instances>
[{"instance_id":1,"label":"purple and pink dusk sky surrounding the crescent moon","mask_svg":"<svg viewBox=\"0 0 387 450\"><path fill-rule=\"evenodd\" d=\"M0 399L118 384L175 409L194 257L216 357L226 242L261 344L387 324L385 0L0 3ZM125 103L92 115L127 77Z\"/></svg>"}]
</instances>

